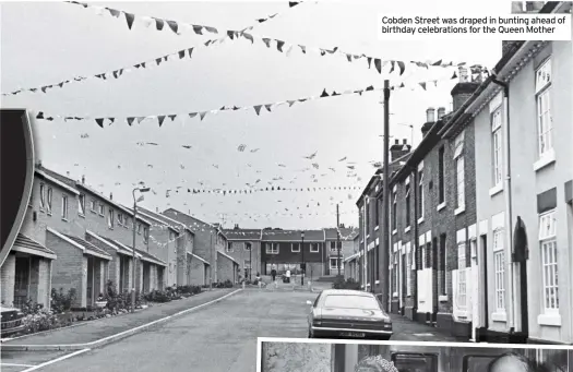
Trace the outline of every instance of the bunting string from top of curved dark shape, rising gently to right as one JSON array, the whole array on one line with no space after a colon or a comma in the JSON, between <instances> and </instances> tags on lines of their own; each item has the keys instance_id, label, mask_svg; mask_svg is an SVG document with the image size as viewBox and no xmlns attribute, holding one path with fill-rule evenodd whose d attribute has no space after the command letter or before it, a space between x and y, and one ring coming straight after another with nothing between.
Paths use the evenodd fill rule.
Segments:
<instances>
[{"instance_id":1,"label":"bunting string from top of curved dark shape, rising gently to right","mask_svg":"<svg viewBox=\"0 0 573 372\"><path fill-rule=\"evenodd\" d=\"M456 79L456 77L457 77L457 74L454 72L454 74L452 75L452 77L450 80ZM439 80L431 80L431 81L418 82L416 85L411 86L411 89L414 91L417 87L421 87L423 91L427 91L427 88L429 86L431 86L431 85L438 86L438 82L440 82L440 81ZM401 88L405 88L405 87L406 87L405 83L402 82L399 85L393 85L391 87L391 89L395 91L395 89L401 89ZM343 91L343 92L332 91L330 93L326 92L326 88L324 88L322 91L322 94L320 94L319 96L309 96L309 97L297 98L297 99L282 100L282 101L272 103L272 104L259 104L259 105L242 106L242 107L239 107L239 106L223 106L223 107L220 107L218 109L211 109L211 110L205 110L205 111L193 111L193 112L188 112L188 113L165 113L165 115L156 115L156 116L132 116L132 117L92 117L92 116L84 116L84 117L77 117L77 116L48 115L45 111L39 111L36 115L36 119L38 119L38 120L47 120L47 121L53 121L55 119L60 119L60 120L64 120L64 121L68 121L68 120L74 120L74 121L94 120L96 122L96 124L98 127L100 127L100 128L104 128L106 123L108 125L111 125L116 121L120 121L120 120L123 120L124 122L127 122L128 125L131 127L133 123L141 123L144 120L153 119L153 120L157 120L158 125L162 127L166 122L167 119L169 119L172 122L172 121L175 121L175 119L178 116L188 116L191 119L199 118L200 121L203 121L205 119L205 117L207 116L207 113L208 115L217 115L217 113L219 113L222 111L253 110L256 113L256 116L260 116L261 111L263 111L263 108L264 108L264 110L266 110L268 112L272 112L273 109L275 109L277 107L288 106L290 108L295 104L300 104L300 103L305 103L305 101L308 101L308 100L315 100L315 99L330 98L330 97L336 97L336 96L347 96L347 95L359 95L359 96L361 96L363 93L367 93L367 92L382 92L382 91L383 91L383 88L374 88L373 85L370 85L370 86L368 86L366 88L361 88L361 89L346 89L346 91Z\"/></svg>"}]
</instances>

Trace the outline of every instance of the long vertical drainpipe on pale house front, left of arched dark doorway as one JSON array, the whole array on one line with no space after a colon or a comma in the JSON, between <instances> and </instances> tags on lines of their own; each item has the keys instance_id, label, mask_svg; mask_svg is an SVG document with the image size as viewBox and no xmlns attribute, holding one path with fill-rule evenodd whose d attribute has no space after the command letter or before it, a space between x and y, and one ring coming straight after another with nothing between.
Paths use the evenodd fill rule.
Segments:
<instances>
[{"instance_id":1,"label":"long vertical drainpipe on pale house front, left of arched dark doorway","mask_svg":"<svg viewBox=\"0 0 573 372\"><path fill-rule=\"evenodd\" d=\"M508 83L501 82L496 75L493 75L492 83L503 88L503 170L505 177L503 179L503 197L505 201L505 260L509 262L508 275L510 278L510 311L509 311L509 325L510 334L515 332L515 277L514 277L514 263L512 256L513 247L513 216L512 216L512 194L511 194L511 158L510 158L510 86Z\"/></svg>"}]
</instances>

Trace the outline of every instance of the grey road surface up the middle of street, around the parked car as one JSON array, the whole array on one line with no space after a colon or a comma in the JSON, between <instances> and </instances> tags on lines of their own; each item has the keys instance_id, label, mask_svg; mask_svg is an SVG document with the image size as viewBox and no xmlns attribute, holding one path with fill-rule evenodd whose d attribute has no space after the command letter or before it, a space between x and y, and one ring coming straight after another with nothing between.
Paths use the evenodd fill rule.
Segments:
<instances>
[{"instance_id":1,"label":"grey road surface up the middle of street, around the parked car","mask_svg":"<svg viewBox=\"0 0 573 372\"><path fill-rule=\"evenodd\" d=\"M247 289L118 343L75 351L80 353L69 359L57 360L70 355L61 352L2 352L1 368L9 372L32 371L33 368L7 363L39 365L56 359L40 370L252 372L256 367L258 337L307 337L306 302L315 296L306 291ZM393 317L393 339L452 340L435 328Z\"/></svg>"}]
</instances>

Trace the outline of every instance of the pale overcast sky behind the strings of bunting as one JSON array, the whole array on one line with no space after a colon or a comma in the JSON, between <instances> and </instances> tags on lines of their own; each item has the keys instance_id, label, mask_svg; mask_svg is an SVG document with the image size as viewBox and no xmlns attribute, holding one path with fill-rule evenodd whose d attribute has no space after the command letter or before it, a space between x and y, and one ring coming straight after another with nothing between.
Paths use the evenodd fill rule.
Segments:
<instances>
[{"instance_id":1,"label":"pale overcast sky behind the strings of bunting","mask_svg":"<svg viewBox=\"0 0 573 372\"><path fill-rule=\"evenodd\" d=\"M509 10L509 3L496 1ZM280 2L106 2L95 3L135 15L164 17L219 31L256 25L251 34L309 48L320 47L383 60L454 61L492 68L501 55L501 41L381 41L377 14L416 15L441 12L468 15L468 2L384 1L307 2L289 9ZM484 3L480 3L480 8ZM256 19L279 13L266 23ZM215 35L217 36L217 35ZM138 20L130 31L123 17L97 15L69 3L27 2L1 5L2 93L37 87L94 75L152 60L183 48L200 46L213 35L193 32L175 35L166 26L158 32ZM255 39L228 40L198 48L192 59L169 61L155 69L136 70L118 80L88 80L51 89L2 97L4 108L27 108L47 115L127 117L186 113L222 106L252 106L318 96L323 88L342 92L382 87L405 81L406 88L391 97L391 135L420 141L420 125L428 107L451 107L449 80L455 68L410 69L380 75L366 59L348 63L344 56L290 56L268 49ZM386 70L387 71L387 70ZM417 82L439 79L427 91ZM417 87L416 87L417 86ZM321 228L335 225L336 203L341 221L356 226L356 200L360 190L317 192L256 192L252 194L190 194L187 189L363 188L382 160L383 106L381 93L317 99L273 112L227 111L190 119L178 116L158 128L157 120L128 127L124 121L97 127L95 121L34 121L36 157L63 175L80 179L106 195L131 205L132 184L144 181L155 193L143 205L190 212L210 223L225 221L246 228ZM87 134L88 137L82 139ZM394 140L392 140L394 141ZM154 142L158 146L140 146ZM244 144L246 151L238 146ZM191 149L181 147L191 145ZM251 149L260 148L255 153ZM315 158L308 160L314 152ZM338 161L346 157L347 160ZM348 163L356 163L358 177L347 177ZM314 169L312 164L319 165ZM286 167L279 167L283 164ZM153 166L153 168L150 167ZM217 166L218 168L214 167ZM329 170L334 167L335 172ZM184 168L184 169L182 169ZM308 171L301 171L310 168ZM326 175L326 176L322 176ZM312 178L314 176L314 178ZM282 178L282 179L279 179ZM273 181L273 179L279 179ZM313 182L318 179L318 182ZM203 183L203 185L201 185ZM179 193L176 192L177 187ZM169 197L166 190L171 189ZM319 205L320 204L320 205ZM288 211L287 211L288 209ZM222 215L224 215L222 217ZM222 219L223 218L223 219Z\"/></svg>"}]
</instances>

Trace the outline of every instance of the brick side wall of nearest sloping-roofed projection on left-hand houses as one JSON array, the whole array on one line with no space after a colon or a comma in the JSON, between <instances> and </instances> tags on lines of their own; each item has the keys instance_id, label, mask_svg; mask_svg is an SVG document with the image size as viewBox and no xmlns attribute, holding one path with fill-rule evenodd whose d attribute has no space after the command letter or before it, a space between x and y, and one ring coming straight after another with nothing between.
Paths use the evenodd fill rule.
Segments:
<instances>
[{"instance_id":1,"label":"brick side wall of nearest sloping-roofed projection on left-hand houses","mask_svg":"<svg viewBox=\"0 0 573 372\"><path fill-rule=\"evenodd\" d=\"M52 288L56 288L58 291L60 288L63 288L64 293L74 288L76 301L73 305L85 307L87 260L84 257L83 252L49 231L46 233L46 243L58 256L58 260L55 260L52 263Z\"/></svg>"}]
</instances>

